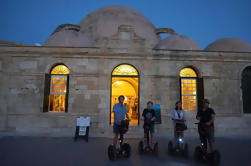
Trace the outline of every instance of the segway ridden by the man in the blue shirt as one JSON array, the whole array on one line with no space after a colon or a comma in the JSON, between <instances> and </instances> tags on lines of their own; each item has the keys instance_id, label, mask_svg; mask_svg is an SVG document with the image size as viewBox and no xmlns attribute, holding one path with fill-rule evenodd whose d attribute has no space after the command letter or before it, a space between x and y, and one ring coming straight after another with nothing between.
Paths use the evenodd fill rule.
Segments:
<instances>
[{"instance_id":1,"label":"segway ridden by the man in the blue shirt","mask_svg":"<svg viewBox=\"0 0 251 166\"><path fill-rule=\"evenodd\" d=\"M131 147L128 143L124 143L124 134L128 131L129 120L122 120L119 125L119 147L113 145L108 147L108 157L110 160L118 158L129 158L131 155Z\"/></svg>"}]
</instances>

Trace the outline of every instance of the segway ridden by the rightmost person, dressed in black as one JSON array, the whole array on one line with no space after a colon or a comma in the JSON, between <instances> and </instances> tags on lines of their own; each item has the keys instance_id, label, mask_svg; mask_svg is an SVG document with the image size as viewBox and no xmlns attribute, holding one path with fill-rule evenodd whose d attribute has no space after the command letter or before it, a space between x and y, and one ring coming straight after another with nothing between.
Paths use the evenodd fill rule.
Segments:
<instances>
[{"instance_id":1,"label":"segway ridden by the rightmost person, dressed in black","mask_svg":"<svg viewBox=\"0 0 251 166\"><path fill-rule=\"evenodd\" d=\"M219 166L221 157L220 152L218 150L214 150L212 153L207 152L209 126L203 123L195 123L195 124L198 125L201 145L195 148L194 159L199 162L209 163L212 166Z\"/></svg>"}]
</instances>

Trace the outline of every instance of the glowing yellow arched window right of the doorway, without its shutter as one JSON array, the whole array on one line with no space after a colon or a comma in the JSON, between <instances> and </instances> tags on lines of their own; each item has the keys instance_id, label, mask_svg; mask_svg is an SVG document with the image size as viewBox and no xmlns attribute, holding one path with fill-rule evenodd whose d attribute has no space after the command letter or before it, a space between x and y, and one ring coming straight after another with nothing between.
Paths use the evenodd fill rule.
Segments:
<instances>
[{"instance_id":1,"label":"glowing yellow arched window right of the doorway, without its shutter","mask_svg":"<svg viewBox=\"0 0 251 166\"><path fill-rule=\"evenodd\" d=\"M197 110L197 74L191 68L180 71L181 77L181 102L186 111Z\"/></svg>"}]
</instances>

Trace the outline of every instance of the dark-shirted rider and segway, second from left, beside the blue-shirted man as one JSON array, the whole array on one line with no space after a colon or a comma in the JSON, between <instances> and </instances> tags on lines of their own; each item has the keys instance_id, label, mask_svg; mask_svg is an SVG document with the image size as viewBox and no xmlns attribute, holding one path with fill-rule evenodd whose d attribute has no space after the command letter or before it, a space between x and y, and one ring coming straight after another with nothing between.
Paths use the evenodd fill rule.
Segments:
<instances>
[{"instance_id":1,"label":"dark-shirted rider and segway, second from left, beside the blue-shirted man","mask_svg":"<svg viewBox=\"0 0 251 166\"><path fill-rule=\"evenodd\" d=\"M153 133L154 133L154 120L156 115L152 109L153 102L147 102L147 108L144 109L142 118L144 120L144 141L140 141L138 145L139 154L143 153L153 153L156 156L158 155L158 143L153 143Z\"/></svg>"}]
</instances>

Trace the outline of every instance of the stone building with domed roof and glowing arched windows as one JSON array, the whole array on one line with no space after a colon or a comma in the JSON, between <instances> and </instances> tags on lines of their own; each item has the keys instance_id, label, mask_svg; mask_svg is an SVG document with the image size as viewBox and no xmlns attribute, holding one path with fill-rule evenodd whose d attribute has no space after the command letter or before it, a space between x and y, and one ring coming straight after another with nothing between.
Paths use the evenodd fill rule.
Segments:
<instances>
[{"instance_id":1,"label":"stone building with domed roof and glowing arched windows","mask_svg":"<svg viewBox=\"0 0 251 166\"><path fill-rule=\"evenodd\" d=\"M160 34L169 37L161 39ZM112 105L126 96L128 135L142 135L147 101L160 105L170 133L170 111L182 101L188 133L208 98L216 134L251 133L251 45L219 39L205 49L171 28L156 28L126 7L110 6L79 25L62 24L43 46L0 42L0 131L17 135L68 135L76 118L90 116L93 136L112 133Z\"/></svg>"}]
</instances>

